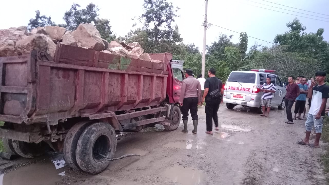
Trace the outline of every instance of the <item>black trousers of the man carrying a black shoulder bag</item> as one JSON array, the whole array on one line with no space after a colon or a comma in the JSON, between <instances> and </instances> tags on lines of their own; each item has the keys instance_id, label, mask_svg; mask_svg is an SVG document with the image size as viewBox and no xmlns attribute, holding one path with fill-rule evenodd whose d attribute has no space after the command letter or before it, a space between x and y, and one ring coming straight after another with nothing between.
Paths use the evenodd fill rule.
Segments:
<instances>
[{"instance_id":1,"label":"black trousers of the man carrying a black shoulder bag","mask_svg":"<svg viewBox=\"0 0 329 185\"><path fill-rule=\"evenodd\" d=\"M213 131L213 119L215 122L215 126L218 126L218 116L217 111L220 104L220 98L213 98L210 100L206 100L206 123L207 123L207 131Z\"/></svg>"}]
</instances>

